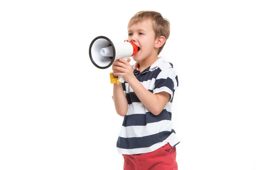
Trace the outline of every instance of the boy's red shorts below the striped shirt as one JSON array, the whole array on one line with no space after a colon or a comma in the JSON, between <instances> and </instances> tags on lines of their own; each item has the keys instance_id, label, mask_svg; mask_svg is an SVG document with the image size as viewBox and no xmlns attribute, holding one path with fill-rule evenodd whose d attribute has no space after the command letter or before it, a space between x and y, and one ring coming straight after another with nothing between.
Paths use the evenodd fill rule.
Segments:
<instances>
[{"instance_id":1,"label":"boy's red shorts below the striped shirt","mask_svg":"<svg viewBox=\"0 0 256 170\"><path fill-rule=\"evenodd\" d=\"M159 149L142 154L122 155L124 170L177 170L176 147L169 143Z\"/></svg>"}]
</instances>

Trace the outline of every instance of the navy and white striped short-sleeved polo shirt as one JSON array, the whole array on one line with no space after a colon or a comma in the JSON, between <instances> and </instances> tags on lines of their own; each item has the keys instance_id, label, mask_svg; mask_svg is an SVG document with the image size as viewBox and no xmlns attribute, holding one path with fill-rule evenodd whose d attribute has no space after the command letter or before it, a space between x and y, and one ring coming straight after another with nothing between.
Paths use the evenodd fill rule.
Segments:
<instances>
[{"instance_id":1,"label":"navy and white striped short-sleeved polo shirt","mask_svg":"<svg viewBox=\"0 0 256 170\"><path fill-rule=\"evenodd\" d=\"M156 62L140 72L137 62L132 65L135 77L153 94L165 91L171 94L163 111L155 116L140 102L127 82L122 83L128 101L128 112L124 116L117 139L117 151L121 154L148 153L167 142L174 147L180 141L172 127L172 101L178 87L178 77L172 63L159 57Z\"/></svg>"}]
</instances>

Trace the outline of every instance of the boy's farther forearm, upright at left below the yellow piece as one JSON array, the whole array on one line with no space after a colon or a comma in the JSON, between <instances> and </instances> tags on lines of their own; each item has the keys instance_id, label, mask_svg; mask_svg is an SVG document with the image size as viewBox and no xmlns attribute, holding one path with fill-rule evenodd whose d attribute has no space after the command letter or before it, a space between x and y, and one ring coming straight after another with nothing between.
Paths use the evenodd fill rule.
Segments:
<instances>
[{"instance_id":1,"label":"boy's farther forearm, upright at left below the yellow piece","mask_svg":"<svg viewBox=\"0 0 256 170\"><path fill-rule=\"evenodd\" d=\"M128 111L128 102L123 92L122 84L113 84L113 100L116 108L116 113L120 116L125 116Z\"/></svg>"}]
</instances>

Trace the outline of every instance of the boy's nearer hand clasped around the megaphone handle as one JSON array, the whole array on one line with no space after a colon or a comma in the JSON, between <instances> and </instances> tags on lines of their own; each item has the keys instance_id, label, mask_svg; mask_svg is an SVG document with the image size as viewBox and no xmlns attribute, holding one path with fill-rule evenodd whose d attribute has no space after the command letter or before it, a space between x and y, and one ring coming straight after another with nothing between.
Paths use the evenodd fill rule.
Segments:
<instances>
[{"instance_id":1,"label":"boy's nearer hand clasped around the megaphone handle","mask_svg":"<svg viewBox=\"0 0 256 170\"><path fill-rule=\"evenodd\" d=\"M134 73L131 68L131 64L129 63L131 61L130 58L127 59L118 59L112 64L112 70L114 77L122 76L126 82L128 82L129 79L135 77Z\"/></svg>"}]
</instances>

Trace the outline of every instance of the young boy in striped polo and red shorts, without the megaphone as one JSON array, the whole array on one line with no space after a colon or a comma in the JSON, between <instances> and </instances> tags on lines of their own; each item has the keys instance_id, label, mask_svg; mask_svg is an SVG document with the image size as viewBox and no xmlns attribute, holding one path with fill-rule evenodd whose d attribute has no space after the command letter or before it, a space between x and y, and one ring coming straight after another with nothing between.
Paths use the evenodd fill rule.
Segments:
<instances>
[{"instance_id":1,"label":"young boy in striped polo and red shorts, without the megaphone","mask_svg":"<svg viewBox=\"0 0 256 170\"><path fill-rule=\"evenodd\" d=\"M140 11L128 23L128 41L138 46L131 59L116 60L113 84L116 112L124 116L117 150L124 157L124 170L177 170L172 129L172 100L178 78L169 62L158 57L170 35L170 23L156 11Z\"/></svg>"}]
</instances>

